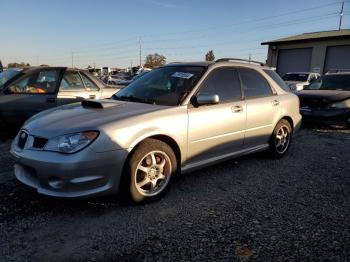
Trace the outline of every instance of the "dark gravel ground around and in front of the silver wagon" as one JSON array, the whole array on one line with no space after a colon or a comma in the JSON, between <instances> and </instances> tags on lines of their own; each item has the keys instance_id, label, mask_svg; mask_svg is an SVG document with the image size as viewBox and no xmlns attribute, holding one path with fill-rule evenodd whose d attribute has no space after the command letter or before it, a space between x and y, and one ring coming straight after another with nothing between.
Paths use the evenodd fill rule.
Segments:
<instances>
[{"instance_id":1,"label":"dark gravel ground around and in front of the silver wagon","mask_svg":"<svg viewBox=\"0 0 350 262\"><path fill-rule=\"evenodd\" d=\"M0 148L0 261L350 261L350 131L302 129L283 159L193 172L147 205L39 196Z\"/></svg>"}]
</instances>

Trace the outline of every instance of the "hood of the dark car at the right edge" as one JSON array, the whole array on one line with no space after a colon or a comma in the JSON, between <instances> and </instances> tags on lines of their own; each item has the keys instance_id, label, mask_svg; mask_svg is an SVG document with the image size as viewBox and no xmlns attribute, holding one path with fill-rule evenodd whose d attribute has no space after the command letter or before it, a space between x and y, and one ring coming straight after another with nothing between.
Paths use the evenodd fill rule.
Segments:
<instances>
[{"instance_id":1,"label":"hood of the dark car at the right edge","mask_svg":"<svg viewBox=\"0 0 350 262\"><path fill-rule=\"evenodd\" d=\"M297 93L300 99L319 98L328 102L342 101L350 98L350 91L341 90L302 90Z\"/></svg>"}]
</instances>

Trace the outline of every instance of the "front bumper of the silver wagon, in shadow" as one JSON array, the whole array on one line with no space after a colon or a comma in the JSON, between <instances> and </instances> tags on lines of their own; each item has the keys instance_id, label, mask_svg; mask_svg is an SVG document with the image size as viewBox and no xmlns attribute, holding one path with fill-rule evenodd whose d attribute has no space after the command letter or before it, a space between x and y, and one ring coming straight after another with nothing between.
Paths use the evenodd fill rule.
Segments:
<instances>
[{"instance_id":1,"label":"front bumper of the silver wagon, in shadow","mask_svg":"<svg viewBox=\"0 0 350 262\"><path fill-rule=\"evenodd\" d=\"M127 150L96 153L86 148L74 154L20 149L11 146L15 176L38 193L81 198L118 192Z\"/></svg>"}]
</instances>

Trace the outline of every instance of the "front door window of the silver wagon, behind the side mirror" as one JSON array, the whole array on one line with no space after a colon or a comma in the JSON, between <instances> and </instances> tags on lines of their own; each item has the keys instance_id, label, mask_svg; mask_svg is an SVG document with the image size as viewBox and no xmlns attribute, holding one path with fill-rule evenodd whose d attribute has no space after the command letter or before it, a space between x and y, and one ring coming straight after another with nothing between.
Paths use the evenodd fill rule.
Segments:
<instances>
[{"instance_id":1,"label":"front door window of the silver wagon, behind the side mirror","mask_svg":"<svg viewBox=\"0 0 350 262\"><path fill-rule=\"evenodd\" d=\"M220 102L240 100L242 94L237 70L220 68L212 71L204 81L199 94L219 95Z\"/></svg>"}]
</instances>

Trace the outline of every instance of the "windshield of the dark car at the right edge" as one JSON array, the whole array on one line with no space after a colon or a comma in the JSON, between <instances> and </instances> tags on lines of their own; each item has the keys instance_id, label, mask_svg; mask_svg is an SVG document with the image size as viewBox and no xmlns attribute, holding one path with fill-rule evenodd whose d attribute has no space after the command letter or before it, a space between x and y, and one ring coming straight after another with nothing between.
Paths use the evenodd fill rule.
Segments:
<instances>
[{"instance_id":1,"label":"windshield of the dark car at the right edge","mask_svg":"<svg viewBox=\"0 0 350 262\"><path fill-rule=\"evenodd\" d=\"M307 90L344 90L350 91L350 74L325 75L304 89Z\"/></svg>"}]
</instances>

